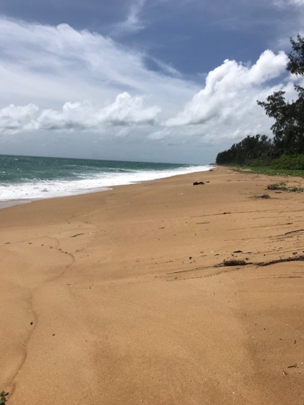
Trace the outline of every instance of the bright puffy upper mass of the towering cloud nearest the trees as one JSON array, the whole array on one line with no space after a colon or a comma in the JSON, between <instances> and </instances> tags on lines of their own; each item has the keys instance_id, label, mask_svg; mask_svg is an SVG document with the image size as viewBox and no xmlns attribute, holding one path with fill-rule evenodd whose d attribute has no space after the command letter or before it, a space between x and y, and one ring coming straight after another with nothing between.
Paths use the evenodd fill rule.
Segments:
<instances>
[{"instance_id":1,"label":"bright puffy upper mass of the towering cloud nearest the trees","mask_svg":"<svg viewBox=\"0 0 304 405\"><path fill-rule=\"evenodd\" d=\"M205 88L195 94L177 116L164 124L206 124L210 120L230 119L244 111L244 107L244 112L248 112L246 110L252 106L252 100L256 100L261 85L283 73L286 61L284 52L275 55L272 51L263 52L252 66L225 60L208 73Z\"/></svg>"}]
</instances>

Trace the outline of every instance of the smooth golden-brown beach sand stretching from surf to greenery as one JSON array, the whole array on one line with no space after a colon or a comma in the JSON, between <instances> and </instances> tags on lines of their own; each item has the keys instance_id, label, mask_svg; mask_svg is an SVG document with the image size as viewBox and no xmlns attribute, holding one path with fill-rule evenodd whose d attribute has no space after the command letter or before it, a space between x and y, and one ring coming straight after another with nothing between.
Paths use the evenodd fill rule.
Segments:
<instances>
[{"instance_id":1,"label":"smooth golden-brown beach sand stretching from surf to greenery","mask_svg":"<svg viewBox=\"0 0 304 405\"><path fill-rule=\"evenodd\" d=\"M303 254L303 194L252 198L279 180L216 168L0 210L8 404L302 405L304 262L216 267Z\"/></svg>"}]
</instances>

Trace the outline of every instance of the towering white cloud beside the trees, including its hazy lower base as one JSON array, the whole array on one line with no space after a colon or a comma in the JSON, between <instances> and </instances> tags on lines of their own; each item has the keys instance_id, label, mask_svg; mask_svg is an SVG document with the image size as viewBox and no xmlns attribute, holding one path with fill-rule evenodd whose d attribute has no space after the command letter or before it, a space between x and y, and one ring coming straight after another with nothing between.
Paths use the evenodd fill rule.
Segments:
<instances>
[{"instance_id":1,"label":"towering white cloud beside the trees, including its hazy lower base","mask_svg":"<svg viewBox=\"0 0 304 405\"><path fill-rule=\"evenodd\" d=\"M175 117L164 121L164 125L191 126L193 132L200 132L210 139L269 133L270 120L257 106L256 100L263 100L282 87L269 86L268 82L285 71L286 62L284 52L275 55L269 50L263 52L253 65L225 60L208 73L204 89L195 94ZM193 129L194 125L200 127L199 131ZM159 131L150 137L160 139L167 134L168 130Z\"/></svg>"}]
</instances>

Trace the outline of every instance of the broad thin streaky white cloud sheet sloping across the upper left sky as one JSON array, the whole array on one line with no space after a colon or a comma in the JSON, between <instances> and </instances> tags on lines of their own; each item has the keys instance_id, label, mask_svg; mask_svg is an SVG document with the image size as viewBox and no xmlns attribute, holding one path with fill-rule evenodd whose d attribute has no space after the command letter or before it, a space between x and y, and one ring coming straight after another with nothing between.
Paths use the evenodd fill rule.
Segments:
<instances>
[{"instance_id":1,"label":"broad thin streaky white cloud sheet sloping across the upper left sky","mask_svg":"<svg viewBox=\"0 0 304 405\"><path fill-rule=\"evenodd\" d=\"M106 103L127 91L148 95L151 103L173 112L179 99L198 90L186 80L149 70L146 55L67 24L0 18L0 39L2 106L34 102L58 109L67 100Z\"/></svg>"}]
</instances>

